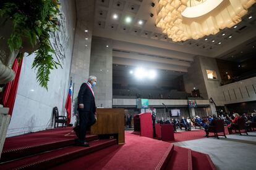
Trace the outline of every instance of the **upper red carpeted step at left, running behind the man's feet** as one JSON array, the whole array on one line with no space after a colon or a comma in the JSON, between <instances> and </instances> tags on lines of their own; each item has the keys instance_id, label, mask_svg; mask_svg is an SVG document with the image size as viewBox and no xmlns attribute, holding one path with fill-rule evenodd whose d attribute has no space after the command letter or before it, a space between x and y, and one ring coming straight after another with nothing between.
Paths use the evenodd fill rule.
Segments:
<instances>
[{"instance_id":1,"label":"upper red carpeted step at left, running behind the man's feet","mask_svg":"<svg viewBox=\"0 0 256 170\"><path fill-rule=\"evenodd\" d=\"M6 141L7 146L4 147L1 155L0 162L4 161L10 161L17 158L22 158L24 156L28 155L34 155L41 152L46 152L50 150L55 150L58 148L64 148L70 145L75 144L74 137L66 138L64 135L61 137L54 137L51 138L51 136L48 136L48 139L46 136L43 137L43 139L39 138L37 140L33 140L33 143L31 142L33 137L38 136L27 136L27 144L19 143L19 140L15 139L15 143L12 143L12 141ZM65 139L66 138L66 139ZM91 135L86 137L87 141L97 140L98 136ZM35 142L35 143L34 143ZM17 144L20 144L19 146Z\"/></svg>"}]
</instances>

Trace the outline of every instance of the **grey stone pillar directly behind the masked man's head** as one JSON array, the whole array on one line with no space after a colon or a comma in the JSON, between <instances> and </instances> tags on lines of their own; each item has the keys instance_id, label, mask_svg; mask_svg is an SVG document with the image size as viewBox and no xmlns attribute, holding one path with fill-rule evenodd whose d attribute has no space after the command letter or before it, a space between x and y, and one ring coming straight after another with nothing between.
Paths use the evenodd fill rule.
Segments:
<instances>
[{"instance_id":1,"label":"grey stone pillar directly behind the masked man's head","mask_svg":"<svg viewBox=\"0 0 256 170\"><path fill-rule=\"evenodd\" d=\"M112 40L94 37L90 59L90 75L97 77L94 87L96 107L112 108Z\"/></svg>"}]
</instances>

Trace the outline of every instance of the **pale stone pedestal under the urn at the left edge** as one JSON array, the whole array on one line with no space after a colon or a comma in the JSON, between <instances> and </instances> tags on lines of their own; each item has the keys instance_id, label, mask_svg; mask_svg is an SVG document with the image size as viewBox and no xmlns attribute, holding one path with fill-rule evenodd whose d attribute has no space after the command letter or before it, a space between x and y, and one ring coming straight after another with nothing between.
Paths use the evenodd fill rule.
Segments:
<instances>
[{"instance_id":1,"label":"pale stone pedestal under the urn at the left edge","mask_svg":"<svg viewBox=\"0 0 256 170\"><path fill-rule=\"evenodd\" d=\"M6 140L6 133L10 123L11 116L7 115L9 108L0 108L0 158L4 141Z\"/></svg>"}]
</instances>

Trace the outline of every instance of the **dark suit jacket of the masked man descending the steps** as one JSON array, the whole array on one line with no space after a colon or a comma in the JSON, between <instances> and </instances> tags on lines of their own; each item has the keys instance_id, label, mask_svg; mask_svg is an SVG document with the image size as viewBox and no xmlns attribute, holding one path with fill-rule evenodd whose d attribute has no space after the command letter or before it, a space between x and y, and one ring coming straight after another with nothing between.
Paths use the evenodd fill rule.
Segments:
<instances>
[{"instance_id":1,"label":"dark suit jacket of the masked man descending the steps","mask_svg":"<svg viewBox=\"0 0 256 170\"><path fill-rule=\"evenodd\" d=\"M95 99L87 83L83 83L80 87L78 104L83 104L83 108L78 107L79 111L90 111L92 113L96 112Z\"/></svg>"}]
</instances>

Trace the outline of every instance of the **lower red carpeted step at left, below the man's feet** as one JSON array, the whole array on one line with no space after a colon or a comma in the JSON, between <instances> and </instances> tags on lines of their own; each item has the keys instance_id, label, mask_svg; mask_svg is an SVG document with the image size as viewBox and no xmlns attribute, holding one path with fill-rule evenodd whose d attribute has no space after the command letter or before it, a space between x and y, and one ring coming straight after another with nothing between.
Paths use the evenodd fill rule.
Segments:
<instances>
[{"instance_id":1,"label":"lower red carpeted step at left, below the man's feet","mask_svg":"<svg viewBox=\"0 0 256 170\"><path fill-rule=\"evenodd\" d=\"M89 142L90 147L66 147L0 164L0 169L46 169L117 144L116 139Z\"/></svg>"}]
</instances>

